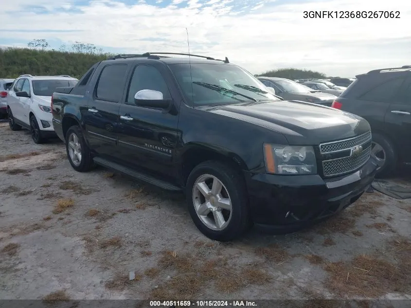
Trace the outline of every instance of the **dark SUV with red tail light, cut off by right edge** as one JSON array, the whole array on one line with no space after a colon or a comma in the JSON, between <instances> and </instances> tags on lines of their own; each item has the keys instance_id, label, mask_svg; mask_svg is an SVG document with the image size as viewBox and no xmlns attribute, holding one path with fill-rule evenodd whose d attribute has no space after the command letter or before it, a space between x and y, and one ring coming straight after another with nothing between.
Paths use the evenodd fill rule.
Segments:
<instances>
[{"instance_id":1,"label":"dark SUV with red tail light, cut off by right edge","mask_svg":"<svg viewBox=\"0 0 411 308\"><path fill-rule=\"evenodd\" d=\"M411 66L373 70L357 79L332 107L366 119L380 176L411 164Z\"/></svg>"}]
</instances>

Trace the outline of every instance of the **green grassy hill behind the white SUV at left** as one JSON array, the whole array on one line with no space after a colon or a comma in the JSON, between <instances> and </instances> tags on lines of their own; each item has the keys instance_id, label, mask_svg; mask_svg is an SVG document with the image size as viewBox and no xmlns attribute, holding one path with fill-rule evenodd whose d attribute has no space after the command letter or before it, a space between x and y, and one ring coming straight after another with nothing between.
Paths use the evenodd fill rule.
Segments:
<instances>
[{"instance_id":1,"label":"green grassy hill behind the white SUV at left","mask_svg":"<svg viewBox=\"0 0 411 308\"><path fill-rule=\"evenodd\" d=\"M0 78L16 78L22 74L66 74L80 78L90 66L108 56L29 48L0 49Z\"/></svg>"}]
</instances>

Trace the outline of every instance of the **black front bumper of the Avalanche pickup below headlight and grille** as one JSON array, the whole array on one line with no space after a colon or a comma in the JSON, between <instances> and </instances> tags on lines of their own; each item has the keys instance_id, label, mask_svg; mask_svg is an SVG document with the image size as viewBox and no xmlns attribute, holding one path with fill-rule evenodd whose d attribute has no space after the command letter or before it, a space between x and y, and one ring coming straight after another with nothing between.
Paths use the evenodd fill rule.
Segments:
<instances>
[{"instance_id":1,"label":"black front bumper of the Avalanche pickup below headlight and grille","mask_svg":"<svg viewBox=\"0 0 411 308\"><path fill-rule=\"evenodd\" d=\"M376 166L371 157L356 172L327 180L245 172L250 215L256 224L278 228L321 221L354 203L374 181Z\"/></svg>"}]
</instances>

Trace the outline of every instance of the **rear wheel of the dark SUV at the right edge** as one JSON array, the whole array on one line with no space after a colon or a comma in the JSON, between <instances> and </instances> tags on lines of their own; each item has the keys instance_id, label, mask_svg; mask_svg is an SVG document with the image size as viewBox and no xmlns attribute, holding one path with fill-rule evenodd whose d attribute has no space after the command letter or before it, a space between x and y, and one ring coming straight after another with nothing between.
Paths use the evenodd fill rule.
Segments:
<instances>
[{"instance_id":1,"label":"rear wheel of the dark SUV at the right edge","mask_svg":"<svg viewBox=\"0 0 411 308\"><path fill-rule=\"evenodd\" d=\"M378 163L377 178L393 174L396 168L397 153L393 143L384 135L373 133L371 155Z\"/></svg>"}]
</instances>

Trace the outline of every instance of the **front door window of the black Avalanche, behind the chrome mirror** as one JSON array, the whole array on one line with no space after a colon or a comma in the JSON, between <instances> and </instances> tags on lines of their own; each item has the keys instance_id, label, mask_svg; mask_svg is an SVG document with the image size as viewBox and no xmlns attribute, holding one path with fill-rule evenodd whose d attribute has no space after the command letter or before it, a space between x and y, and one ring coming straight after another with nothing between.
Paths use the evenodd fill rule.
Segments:
<instances>
[{"instance_id":1,"label":"front door window of the black Avalanche, behind the chrome mirror","mask_svg":"<svg viewBox=\"0 0 411 308\"><path fill-rule=\"evenodd\" d=\"M161 73L153 66L138 65L134 70L126 103L134 105L134 95L140 90L160 91L163 99L170 99L170 91Z\"/></svg>"}]
</instances>

